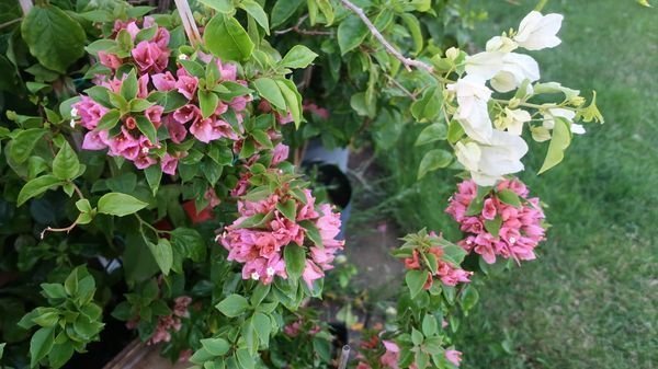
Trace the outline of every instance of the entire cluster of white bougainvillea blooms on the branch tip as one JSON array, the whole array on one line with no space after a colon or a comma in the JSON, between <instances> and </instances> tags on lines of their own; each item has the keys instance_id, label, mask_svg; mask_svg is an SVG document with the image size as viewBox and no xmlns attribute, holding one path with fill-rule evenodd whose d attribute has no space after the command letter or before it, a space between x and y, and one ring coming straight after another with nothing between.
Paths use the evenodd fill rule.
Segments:
<instances>
[{"instance_id":1,"label":"entire cluster of white bougainvillea blooms on the branch tip","mask_svg":"<svg viewBox=\"0 0 658 369\"><path fill-rule=\"evenodd\" d=\"M530 126L534 140L545 141L552 138L557 119L560 119L559 140L565 136L561 125L566 135L570 135L585 132L581 125L575 124L576 119L602 122L593 102L589 107L582 106L585 99L579 91L556 82L533 84L540 80L538 64L529 55L514 53L518 48L541 50L559 45L556 35L561 21L559 14L533 11L521 21L517 32L489 39L483 53L468 56L454 48L446 51L449 62L460 65L458 60L464 59L464 73L446 84L450 99L457 102L454 118L466 134L455 143L455 155L480 186L491 186L502 176L524 169L521 162L527 153L527 145L521 137L524 125ZM514 92L514 96L497 100L494 92ZM559 104L526 103L543 93L563 93L565 100ZM536 120L542 124L531 125ZM542 171L555 164L548 161Z\"/></svg>"}]
</instances>

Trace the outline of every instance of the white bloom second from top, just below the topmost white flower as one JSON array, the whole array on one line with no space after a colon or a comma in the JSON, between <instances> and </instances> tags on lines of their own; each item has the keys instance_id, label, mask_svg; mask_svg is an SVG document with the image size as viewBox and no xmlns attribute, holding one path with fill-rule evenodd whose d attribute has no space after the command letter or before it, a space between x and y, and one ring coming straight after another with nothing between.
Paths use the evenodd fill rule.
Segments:
<instances>
[{"instance_id":1,"label":"white bloom second from top, just below the topmost white flower","mask_svg":"<svg viewBox=\"0 0 658 369\"><path fill-rule=\"evenodd\" d=\"M538 79L540 65L535 59L524 54L509 53L502 58L502 67L490 83L498 92L510 92L525 80L534 82Z\"/></svg>"}]
</instances>

